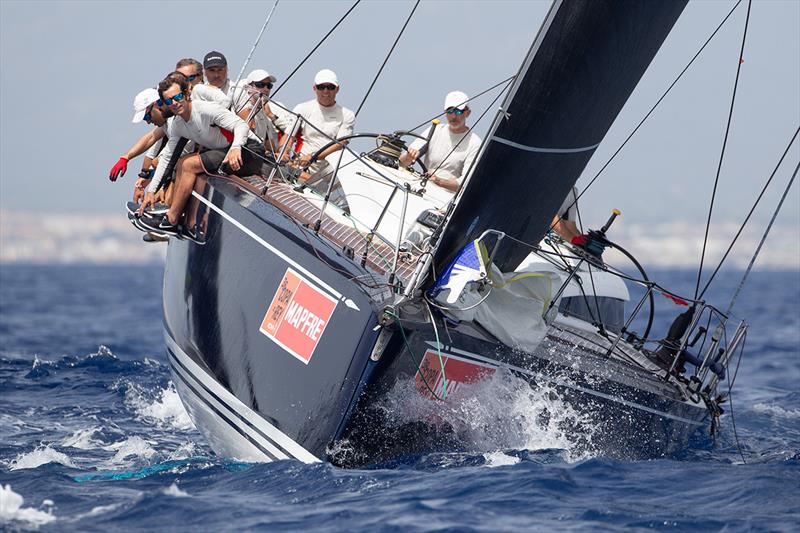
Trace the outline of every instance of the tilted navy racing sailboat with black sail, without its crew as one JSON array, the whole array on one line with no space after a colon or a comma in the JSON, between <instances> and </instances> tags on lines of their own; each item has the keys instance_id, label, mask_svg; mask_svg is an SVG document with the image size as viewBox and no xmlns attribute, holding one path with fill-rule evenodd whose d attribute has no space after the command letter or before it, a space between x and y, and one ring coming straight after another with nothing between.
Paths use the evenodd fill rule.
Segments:
<instances>
[{"instance_id":1,"label":"tilted navy racing sailboat with black sail, without its crew","mask_svg":"<svg viewBox=\"0 0 800 533\"><path fill-rule=\"evenodd\" d=\"M276 161L198 180L199 238L168 246L164 339L212 448L341 466L468 450L441 413L504 379L579 413L562 429L597 428L594 453L662 457L713 430L747 324L549 231L685 4L556 0L455 195L398 164L409 132L364 134L378 147L335 155L318 190ZM685 311L634 332L656 293Z\"/></svg>"}]
</instances>

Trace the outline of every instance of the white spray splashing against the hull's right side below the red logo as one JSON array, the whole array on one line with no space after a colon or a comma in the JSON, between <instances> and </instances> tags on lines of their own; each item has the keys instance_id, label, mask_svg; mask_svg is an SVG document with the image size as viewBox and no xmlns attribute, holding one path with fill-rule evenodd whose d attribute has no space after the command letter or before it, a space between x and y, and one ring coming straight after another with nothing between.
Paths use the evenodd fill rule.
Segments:
<instances>
[{"instance_id":1,"label":"white spray splashing against the hull's right side below the red logo","mask_svg":"<svg viewBox=\"0 0 800 533\"><path fill-rule=\"evenodd\" d=\"M561 449L567 461L594 454L595 425L588 415L561 400L553 387L534 388L503 370L460 385L446 401L424 396L413 379L398 380L381 406L398 424L448 424L473 452Z\"/></svg>"}]
</instances>

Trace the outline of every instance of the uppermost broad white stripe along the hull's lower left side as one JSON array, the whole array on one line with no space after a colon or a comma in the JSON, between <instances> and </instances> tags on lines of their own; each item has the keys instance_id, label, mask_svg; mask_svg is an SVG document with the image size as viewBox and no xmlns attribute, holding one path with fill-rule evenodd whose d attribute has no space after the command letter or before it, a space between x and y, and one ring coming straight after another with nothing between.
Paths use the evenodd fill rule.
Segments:
<instances>
[{"instance_id":1,"label":"uppermost broad white stripe along the hull's lower left side","mask_svg":"<svg viewBox=\"0 0 800 533\"><path fill-rule=\"evenodd\" d=\"M175 357L178 363L176 367L182 367L179 370L181 377L186 381L186 375L191 378L204 389L207 394L203 394L203 399L214 400L213 405L221 406L224 410L232 414L231 419L236 424L240 432L246 432L250 437L259 437L259 441L266 443L265 446L271 453L276 456L290 455L295 459L305 463L318 463L320 460L311 452L300 446L297 442L292 440L288 435L281 430L267 422L261 415L250 409L241 400L234 396L225 387L220 385L213 377L203 370L191 357L189 357L178 344L164 332L164 341L167 344L169 352ZM242 423L237 423L236 420ZM283 453L285 451L285 453Z\"/></svg>"}]
</instances>

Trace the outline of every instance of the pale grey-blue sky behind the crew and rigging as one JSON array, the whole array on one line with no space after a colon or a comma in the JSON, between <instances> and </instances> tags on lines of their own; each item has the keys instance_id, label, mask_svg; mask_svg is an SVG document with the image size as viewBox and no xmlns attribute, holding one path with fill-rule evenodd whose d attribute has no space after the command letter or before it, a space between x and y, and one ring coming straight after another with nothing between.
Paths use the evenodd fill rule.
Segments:
<instances>
[{"instance_id":1,"label":"pale grey-blue sky behind the crew and rigging","mask_svg":"<svg viewBox=\"0 0 800 533\"><path fill-rule=\"evenodd\" d=\"M245 74L279 83L352 4L282 0ZM182 57L210 50L235 78L273 5L264 2L17 2L0 0L0 210L122 213L139 162L115 184L108 171L146 132L132 99ZM549 1L423 1L373 89L357 131L418 125L444 95L470 95L514 74ZM339 75L339 102L356 109L411 11L411 1L364 1L276 96L294 106L313 95L314 73ZM598 148L583 187L683 69L733 2L691 2ZM581 201L584 222L683 221L702 231L730 106L746 2ZM473 119L496 93L473 103ZM496 104L497 105L497 104ZM475 131L483 134L492 113ZM739 222L800 125L800 2L753 3L716 223ZM763 224L794 165L796 142L756 213ZM795 184L778 224L800 229ZM720 226L721 227L721 226ZM735 226L734 226L735 227Z\"/></svg>"}]
</instances>

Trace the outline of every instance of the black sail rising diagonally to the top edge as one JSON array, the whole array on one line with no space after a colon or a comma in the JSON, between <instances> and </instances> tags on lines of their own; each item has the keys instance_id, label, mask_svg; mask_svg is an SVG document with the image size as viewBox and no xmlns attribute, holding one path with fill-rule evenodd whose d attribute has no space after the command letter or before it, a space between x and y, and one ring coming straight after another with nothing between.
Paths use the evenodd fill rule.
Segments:
<instances>
[{"instance_id":1,"label":"black sail rising diagonally to the top edge","mask_svg":"<svg viewBox=\"0 0 800 533\"><path fill-rule=\"evenodd\" d=\"M438 272L487 229L541 240L685 6L554 3L444 230ZM506 242L495 264L513 270L529 251Z\"/></svg>"}]
</instances>

